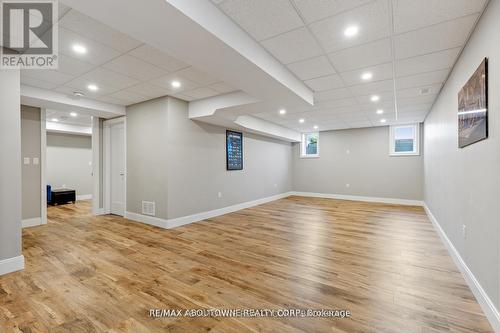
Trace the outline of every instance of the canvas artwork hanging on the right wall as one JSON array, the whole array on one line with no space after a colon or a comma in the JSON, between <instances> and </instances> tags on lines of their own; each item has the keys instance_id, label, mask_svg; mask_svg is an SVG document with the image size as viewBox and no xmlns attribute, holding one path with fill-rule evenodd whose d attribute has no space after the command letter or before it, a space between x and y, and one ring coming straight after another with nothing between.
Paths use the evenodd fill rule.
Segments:
<instances>
[{"instance_id":1,"label":"canvas artwork hanging on the right wall","mask_svg":"<svg viewBox=\"0 0 500 333\"><path fill-rule=\"evenodd\" d=\"M458 146L468 145L488 137L488 59L458 93Z\"/></svg>"}]
</instances>

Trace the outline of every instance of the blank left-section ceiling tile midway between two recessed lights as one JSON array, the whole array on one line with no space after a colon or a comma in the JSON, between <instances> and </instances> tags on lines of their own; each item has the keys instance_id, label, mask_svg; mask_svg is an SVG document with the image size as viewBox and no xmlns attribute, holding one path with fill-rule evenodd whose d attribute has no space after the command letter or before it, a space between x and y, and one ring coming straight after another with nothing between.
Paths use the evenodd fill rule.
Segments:
<instances>
[{"instance_id":1,"label":"blank left-section ceiling tile midway between two recessed lights","mask_svg":"<svg viewBox=\"0 0 500 333\"><path fill-rule=\"evenodd\" d=\"M148 81L168 72L130 55L122 55L103 65L104 68L140 81Z\"/></svg>"}]
</instances>

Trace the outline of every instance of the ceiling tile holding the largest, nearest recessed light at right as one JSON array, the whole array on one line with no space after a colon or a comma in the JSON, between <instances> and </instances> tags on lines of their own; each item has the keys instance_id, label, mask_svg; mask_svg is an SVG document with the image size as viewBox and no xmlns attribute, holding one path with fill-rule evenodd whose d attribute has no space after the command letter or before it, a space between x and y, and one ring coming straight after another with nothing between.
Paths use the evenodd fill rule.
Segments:
<instances>
[{"instance_id":1,"label":"ceiling tile holding the largest, nearest recessed light at right","mask_svg":"<svg viewBox=\"0 0 500 333\"><path fill-rule=\"evenodd\" d=\"M326 52L330 53L388 37L391 33L389 23L387 0L376 0L368 5L315 22L310 28ZM353 38L344 36L344 30L350 25L359 27L359 34Z\"/></svg>"}]
</instances>

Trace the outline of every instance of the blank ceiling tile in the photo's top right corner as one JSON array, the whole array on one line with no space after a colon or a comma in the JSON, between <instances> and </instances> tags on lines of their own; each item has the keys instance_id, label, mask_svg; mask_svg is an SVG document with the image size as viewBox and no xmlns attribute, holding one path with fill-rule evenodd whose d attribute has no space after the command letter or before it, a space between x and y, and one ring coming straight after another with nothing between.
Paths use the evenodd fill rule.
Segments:
<instances>
[{"instance_id":1,"label":"blank ceiling tile in the photo's top right corner","mask_svg":"<svg viewBox=\"0 0 500 333\"><path fill-rule=\"evenodd\" d=\"M396 33L479 13L486 0L395 0Z\"/></svg>"}]
</instances>

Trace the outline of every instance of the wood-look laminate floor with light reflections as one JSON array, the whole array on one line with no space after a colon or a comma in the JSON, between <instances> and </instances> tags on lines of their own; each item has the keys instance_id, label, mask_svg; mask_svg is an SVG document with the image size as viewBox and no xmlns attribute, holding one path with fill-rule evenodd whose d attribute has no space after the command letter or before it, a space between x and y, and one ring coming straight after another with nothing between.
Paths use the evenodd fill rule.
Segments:
<instances>
[{"instance_id":1,"label":"wood-look laminate floor with light reflections","mask_svg":"<svg viewBox=\"0 0 500 333\"><path fill-rule=\"evenodd\" d=\"M23 231L0 332L492 332L422 208L289 197L163 230L90 204ZM349 318L149 310L347 309Z\"/></svg>"}]
</instances>

